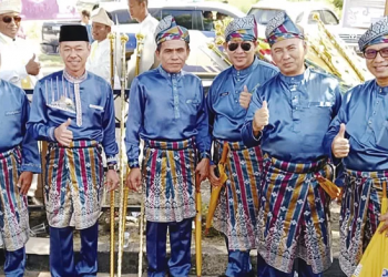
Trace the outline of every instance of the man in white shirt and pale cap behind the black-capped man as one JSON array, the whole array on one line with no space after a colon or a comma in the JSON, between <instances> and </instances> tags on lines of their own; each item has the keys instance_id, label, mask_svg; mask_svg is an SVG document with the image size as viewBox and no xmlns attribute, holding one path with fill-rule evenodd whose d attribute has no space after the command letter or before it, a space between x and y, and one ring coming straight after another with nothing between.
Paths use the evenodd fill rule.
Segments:
<instances>
[{"instance_id":1,"label":"man in white shirt and pale cap behind the black-capped man","mask_svg":"<svg viewBox=\"0 0 388 277\"><path fill-rule=\"evenodd\" d=\"M113 21L103 8L92 11L92 37L94 42L88 58L86 70L111 83L111 45L108 34L112 31ZM116 70L114 70L116 72ZM119 76L114 74L114 89L119 89Z\"/></svg>"}]
</instances>

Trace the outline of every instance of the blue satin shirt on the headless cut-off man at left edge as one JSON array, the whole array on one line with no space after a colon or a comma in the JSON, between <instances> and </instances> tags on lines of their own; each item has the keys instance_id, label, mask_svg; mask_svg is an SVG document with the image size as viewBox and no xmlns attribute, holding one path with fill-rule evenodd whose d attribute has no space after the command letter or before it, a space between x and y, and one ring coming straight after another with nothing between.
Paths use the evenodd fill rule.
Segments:
<instances>
[{"instance_id":1,"label":"blue satin shirt on the headless cut-off man at left edge","mask_svg":"<svg viewBox=\"0 0 388 277\"><path fill-rule=\"evenodd\" d=\"M41 172L38 142L27 134L30 103L23 90L0 80L0 152L21 146L22 172Z\"/></svg>"}]
</instances>

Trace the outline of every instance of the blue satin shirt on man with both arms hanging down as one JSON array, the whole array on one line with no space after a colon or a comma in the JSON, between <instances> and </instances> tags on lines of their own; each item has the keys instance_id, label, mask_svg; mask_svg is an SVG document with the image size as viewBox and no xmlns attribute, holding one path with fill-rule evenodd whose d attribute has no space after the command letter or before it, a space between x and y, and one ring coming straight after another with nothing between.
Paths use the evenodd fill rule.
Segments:
<instances>
[{"instance_id":1,"label":"blue satin shirt on man with both arms hanging down","mask_svg":"<svg viewBox=\"0 0 388 277\"><path fill-rule=\"evenodd\" d=\"M139 167L140 138L182 141L195 137L208 157L211 138L201 79L161 65L135 78L131 85L125 146L130 167Z\"/></svg>"}]
</instances>

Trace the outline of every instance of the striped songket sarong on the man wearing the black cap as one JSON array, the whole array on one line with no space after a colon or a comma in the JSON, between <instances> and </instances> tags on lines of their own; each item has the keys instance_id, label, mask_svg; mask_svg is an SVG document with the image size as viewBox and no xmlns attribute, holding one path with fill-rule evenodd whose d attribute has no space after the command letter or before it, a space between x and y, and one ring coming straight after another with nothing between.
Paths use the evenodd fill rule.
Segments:
<instances>
[{"instance_id":1,"label":"striped songket sarong on the man wearing the black cap","mask_svg":"<svg viewBox=\"0 0 388 277\"><path fill-rule=\"evenodd\" d=\"M104 182L101 153L95 141L74 141L70 147L49 144L44 198L50 226L85 229L95 224Z\"/></svg>"}]
</instances>

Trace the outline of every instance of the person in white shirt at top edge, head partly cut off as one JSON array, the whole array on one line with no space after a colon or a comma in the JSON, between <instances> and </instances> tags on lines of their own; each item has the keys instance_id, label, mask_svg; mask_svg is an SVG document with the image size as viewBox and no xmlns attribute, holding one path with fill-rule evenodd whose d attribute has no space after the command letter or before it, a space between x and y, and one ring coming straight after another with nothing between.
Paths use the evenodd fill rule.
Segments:
<instances>
[{"instance_id":1,"label":"person in white shirt at top edge, head partly cut off","mask_svg":"<svg viewBox=\"0 0 388 277\"><path fill-rule=\"evenodd\" d=\"M154 69L159 65L155 50L156 42L154 33L159 21L149 13L149 1L147 0L129 0L131 18L135 19L139 24L139 32L144 35L143 45L142 45L142 55L140 59L139 72L143 73L150 69ZM137 41L139 43L139 41ZM135 68L136 68L136 57L137 48L133 52L131 60L127 63L127 88L131 86L132 80L135 78Z\"/></svg>"}]
</instances>

